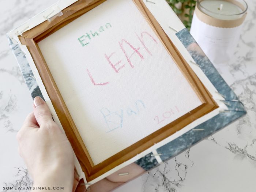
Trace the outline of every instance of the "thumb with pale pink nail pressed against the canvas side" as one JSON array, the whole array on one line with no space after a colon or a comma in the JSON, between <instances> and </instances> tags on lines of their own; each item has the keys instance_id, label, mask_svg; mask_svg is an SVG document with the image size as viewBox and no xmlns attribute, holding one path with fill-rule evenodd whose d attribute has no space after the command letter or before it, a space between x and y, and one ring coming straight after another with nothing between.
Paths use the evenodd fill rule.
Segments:
<instances>
[{"instance_id":1,"label":"thumb with pale pink nail pressed against the canvas side","mask_svg":"<svg viewBox=\"0 0 256 192\"><path fill-rule=\"evenodd\" d=\"M43 124L53 122L50 109L48 108L45 101L41 99L41 97L34 98L34 105L35 105L34 115L39 127Z\"/></svg>"}]
</instances>

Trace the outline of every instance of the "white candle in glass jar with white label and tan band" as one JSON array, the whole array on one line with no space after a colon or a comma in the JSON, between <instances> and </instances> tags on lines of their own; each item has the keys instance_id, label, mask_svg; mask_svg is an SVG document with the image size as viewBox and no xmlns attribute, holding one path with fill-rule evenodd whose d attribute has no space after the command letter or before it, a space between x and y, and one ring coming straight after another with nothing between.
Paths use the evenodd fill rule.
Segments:
<instances>
[{"instance_id":1,"label":"white candle in glass jar with white label and tan band","mask_svg":"<svg viewBox=\"0 0 256 192\"><path fill-rule=\"evenodd\" d=\"M212 63L232 59L246 10L244 0L197 0L190 33Z\"/></svg>"}]
</instances>

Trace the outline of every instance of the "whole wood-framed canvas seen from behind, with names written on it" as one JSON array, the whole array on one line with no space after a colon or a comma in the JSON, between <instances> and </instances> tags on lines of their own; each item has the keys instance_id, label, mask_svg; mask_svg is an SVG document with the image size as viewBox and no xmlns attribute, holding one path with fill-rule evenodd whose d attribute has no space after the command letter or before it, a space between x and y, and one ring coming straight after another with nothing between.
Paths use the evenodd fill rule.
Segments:
<instances>
[{"instance_id":1,"label":"whole wood-framed canvas seen from behind, with names written on it","mask_svg":"<svg viewBox=\"0 0 256 192\"><path fill-rule=\"evenodd\" d=\"M32 96L45 99L71 144L74 139L82 143L72 146L80 177L88 185L133 162L149 170L245 114L164 0L76 3L85 9L95 6L84 14L74 12L79 16L58 29L53 26L61 23L61 16L47 21L38 15L8 37ZM75 5L64 1L57 10L69 18L65 8ZM117 13L122 13L119 18ZM40 27L49 30L26 44L23 39ZM26 35L20 36L20 29ZM47 84L47 74L61 99ZM59 103L70 114L61 116ZM74 120L75 136L62 123L67 117ZM140 173L129 174L131 179Z\"/></svg>"}]
</instances>

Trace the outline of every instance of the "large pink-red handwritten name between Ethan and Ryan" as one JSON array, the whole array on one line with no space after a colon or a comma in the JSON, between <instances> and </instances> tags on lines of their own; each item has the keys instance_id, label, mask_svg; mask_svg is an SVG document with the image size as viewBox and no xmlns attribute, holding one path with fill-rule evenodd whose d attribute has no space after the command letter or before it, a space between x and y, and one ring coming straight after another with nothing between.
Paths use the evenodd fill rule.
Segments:
<instances>
[{"instance_id":1,"label":"large pink-red handwritten name between Ethan and Ryan","mask_svg":"<svg viewBox=\"0 0 256 192\"><path fill-rule=\"evenodd\" d=\"M141 43L142 47L146 50L146 52L152 56L152 53L150 52L150 50L147 47L148 43L152 43L154 42L155 44L157 44L157 40L150 35L148 32L143 31L140 35L138 35L137 33L135 33L136 37L138 38L138 41ZM151 42L145 42L144 38L147 36L147 39L151 39ZM149 38L148 38L149 37ZM141 60L144 60L144 56L142 55L140 48L141 47L135 47L133 46L129 41L127 41L126 39L121 39L121 41L118 42L118 45L120 46L120 49L122 50L124 56L125 56L125 60L119 60L119 61L113 61L112 60L112 56L114 54L116 54L115 52L112 53L105 53L105 59L108 62L109 66L114 70L114 72L118 73L120 72L124 67L125 64L127 64L128 62L128 66L133 68L134 67L134 63L132 63L131 58L132 57L139 57ZM125 46L124 46L125 45ZM128 50L129 49L129 50ZM131 52L131 54L128 54L127 52ZM93 75L91 74L91 72L89 71L89 69L86 69L87 71L87 75L89 76L91 83L93 83L93 85L95 86L105 86L107 84L109 84L108 81L106 82L96 82L96 80L93 78Z\"/></svg>"}]
</instances>

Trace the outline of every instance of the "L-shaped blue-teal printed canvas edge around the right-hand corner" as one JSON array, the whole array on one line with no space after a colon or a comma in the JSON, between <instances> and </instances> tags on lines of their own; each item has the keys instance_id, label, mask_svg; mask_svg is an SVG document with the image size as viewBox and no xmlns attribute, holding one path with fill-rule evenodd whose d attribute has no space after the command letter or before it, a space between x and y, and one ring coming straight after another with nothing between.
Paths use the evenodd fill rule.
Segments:
<instances>
[{"instance_id":1,"label":"L-shaped blue-teal printed canvas edge around the right-hand corner","mask_svg":"<svg viewBox=\"0 0 256 192\"><path fill-rule=\"evenodd\" d=\"M202 141L204 138L207 138L246 114L242 102L239 101L237 95L231 90L208 57L203 53L189 31L183 29L177 32L176 35L188 50L196 64L199 65L204 74L217 89L218 93L225 98L225 101L223 102L226 104L228 110L223 110L222 113L194 128L203 129L203 131L193 131L192 129L164 146L159 147L157 153L161 154L160 157L162 161L167 161L168 159L175 157L182 153L182 151L185 151L189 147Z\"/></svg>"}]
</instances>

